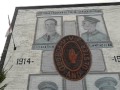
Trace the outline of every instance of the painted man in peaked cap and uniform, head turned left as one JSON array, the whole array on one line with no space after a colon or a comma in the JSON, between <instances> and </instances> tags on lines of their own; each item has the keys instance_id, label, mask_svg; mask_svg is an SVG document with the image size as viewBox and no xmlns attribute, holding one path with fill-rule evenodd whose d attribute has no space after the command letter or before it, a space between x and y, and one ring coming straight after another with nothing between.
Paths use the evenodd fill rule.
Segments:
<instances>
[{"instance_id":1,"label":"painted man in peaked cap and uniform, head turned left","mask_svg":"<svg viewBox=\"0 0 120 90\"><path fill-rule=\"evenodd\" d=\"M98 20L97 18L84 16L82 26L86 32L82 33L81 37L86 42L100 42L109 40L106 34L96 29L96 25L98 24L98 22L100 22L100 20Z\"/></svg>"}]
</instances>

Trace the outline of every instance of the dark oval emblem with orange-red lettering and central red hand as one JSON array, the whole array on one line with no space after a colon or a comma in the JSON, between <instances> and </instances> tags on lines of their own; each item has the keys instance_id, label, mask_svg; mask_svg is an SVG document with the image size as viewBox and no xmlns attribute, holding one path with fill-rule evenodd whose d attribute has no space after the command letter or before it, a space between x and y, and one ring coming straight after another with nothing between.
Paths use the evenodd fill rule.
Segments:
<instances>
[{"instance_id":1,"label":"dark oval emblem with orange-red lettering and central red hand","mask_svg":"<svg viewBox=\"0 0 120 90\"><path fill-rule=\"evenodd\" d=\"M54 50L56 69L66 79L81 80L90 70L91 52L85 41L74 35L63 37Z\"/></svg>"}]
</instances>

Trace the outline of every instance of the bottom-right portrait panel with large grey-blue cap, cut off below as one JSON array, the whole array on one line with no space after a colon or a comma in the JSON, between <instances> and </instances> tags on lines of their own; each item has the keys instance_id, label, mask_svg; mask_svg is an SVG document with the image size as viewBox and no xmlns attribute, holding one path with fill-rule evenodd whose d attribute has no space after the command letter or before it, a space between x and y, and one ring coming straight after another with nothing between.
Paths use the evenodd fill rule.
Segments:
<instances>
[{"instance_id":1,"label":"bottom-right portrait panel with large grey-blue cap, cut off below","mask_svg":"<svg viewBox=\"0 0 120 90\"><path fill-rule=\"evenodd\" d=\"M120 77L117 73L96 73L86 77L87 90L120 90Z\"/></svg>"}]
</instances>

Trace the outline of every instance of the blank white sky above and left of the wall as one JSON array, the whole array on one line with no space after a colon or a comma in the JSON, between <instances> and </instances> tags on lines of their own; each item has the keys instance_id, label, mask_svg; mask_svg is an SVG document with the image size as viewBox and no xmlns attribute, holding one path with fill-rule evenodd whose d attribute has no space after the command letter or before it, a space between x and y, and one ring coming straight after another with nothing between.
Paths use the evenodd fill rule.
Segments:
<instances>
[{"instance_id":1,"label":"blank white sky above and left of the wall","mask_svg":"<svg viewBox=\"0 0 120 90\"><path fill-rule=\"evenodd\" d=\"M120 0L0 0L0 56L6 42L5 35L9 28L8 15L10 21L12 21L15 7L107 2L120 2Z\"/></svg>"}]
</instances>

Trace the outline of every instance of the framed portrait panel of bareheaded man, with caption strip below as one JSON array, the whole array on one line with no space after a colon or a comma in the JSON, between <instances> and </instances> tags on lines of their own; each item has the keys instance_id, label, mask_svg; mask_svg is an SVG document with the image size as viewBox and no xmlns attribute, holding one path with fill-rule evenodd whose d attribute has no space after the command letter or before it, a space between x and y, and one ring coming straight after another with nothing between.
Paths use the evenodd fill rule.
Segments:
<instances>
[{"instance_id":1,"label":"framed portrait panel of bareheaded man, with caption strip below","mask_svg":"<svg viewBox=\"0 0 120 90\"><path fill-rule=\"evenodd\" d=\"M62 17L37 17L33 50L53 50L62 37Z\"/></svg>"}]
</instances>

